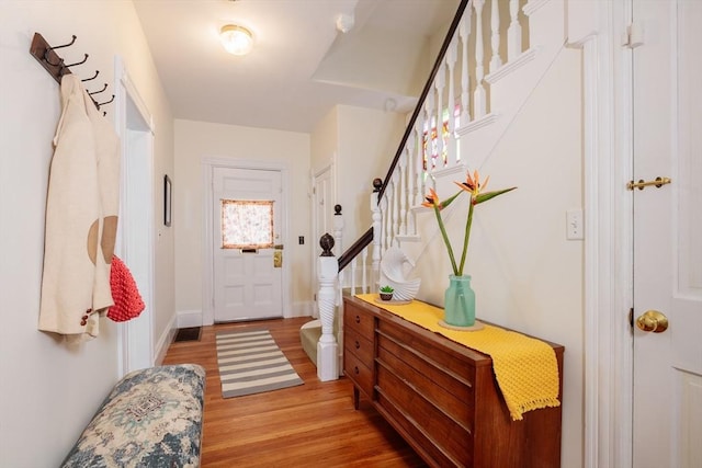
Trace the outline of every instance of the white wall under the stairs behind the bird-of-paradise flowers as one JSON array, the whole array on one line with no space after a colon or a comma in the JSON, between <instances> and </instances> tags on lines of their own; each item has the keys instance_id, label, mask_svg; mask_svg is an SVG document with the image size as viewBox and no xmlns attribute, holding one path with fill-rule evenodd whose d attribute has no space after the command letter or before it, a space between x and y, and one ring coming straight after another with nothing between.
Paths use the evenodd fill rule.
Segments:
<instances>
[{"instance_id":1,"label":"white wall under the stairs behind the bird-of-paradise flowers","mask_svg":"<svg viewBox=\"0 0 702 468\"><path fill-rule=\"evenodd\" d=\"M474 210L464 274L476 316L565 346L562 464L582 466L584 243L566 240L566 210L582 206L581 55L563 49L505 137L478 169L487 191L518 186ZM471 161L471 149L462 148ZM456 192L451 178L442 198ZM444 214L460 261L467 196ZM419 222L432 239L417 259L419 299L443 305L451 264L433 214Z\"/></svg>"}]
</instances>

